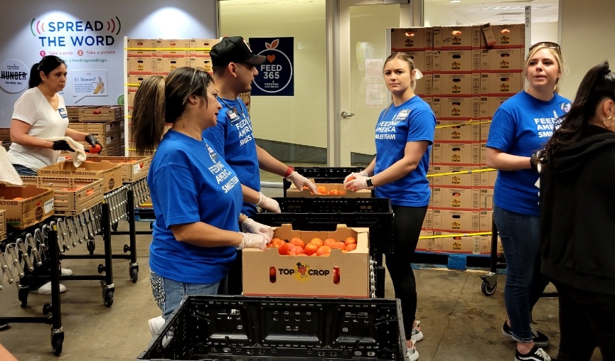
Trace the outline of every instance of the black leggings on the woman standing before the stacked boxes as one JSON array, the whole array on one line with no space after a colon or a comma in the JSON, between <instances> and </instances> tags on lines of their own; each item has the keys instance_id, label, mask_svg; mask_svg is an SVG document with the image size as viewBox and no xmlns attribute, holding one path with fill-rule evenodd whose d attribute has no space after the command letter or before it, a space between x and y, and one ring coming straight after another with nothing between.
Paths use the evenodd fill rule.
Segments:
<instances>
[{"instance_id":1,"label":"black leggings on the woman standing before the stacked boxes","mask_svg":"<svg viewBox=\"0 0 615 361\"><path fill-rule=\"evenodd\" d=\"M386 255L387 270L393 281L395 298L402 303L406 340L412 335L417 313L417 281L412 271L412 259L417 249L427 207L394 205L395 253Z\"/></svg>"}]
</instances>

